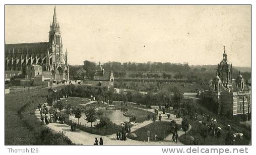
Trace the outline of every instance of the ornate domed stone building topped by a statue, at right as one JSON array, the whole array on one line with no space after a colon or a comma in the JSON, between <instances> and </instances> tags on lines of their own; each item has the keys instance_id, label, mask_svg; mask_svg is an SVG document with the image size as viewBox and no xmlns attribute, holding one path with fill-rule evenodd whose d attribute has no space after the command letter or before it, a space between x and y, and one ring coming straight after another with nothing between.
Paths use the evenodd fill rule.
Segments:
<instances>
[{"instance_id":1,"label":"ornate domed stone building topped by a statue, at right","mask_svg":"<svg viewBox=\"0 0 256 155\"><path fill-rule=\"evenodd\" d=\"M218 114L225 116L242 116L249 120L251 116L251 91L239 74L233 79L232 63L227 60L224 46L222 61L218 63L216 76L211 82L210 90L204 91L202 97L212 98L218 103Z\"/></svg>"}]
</instances>

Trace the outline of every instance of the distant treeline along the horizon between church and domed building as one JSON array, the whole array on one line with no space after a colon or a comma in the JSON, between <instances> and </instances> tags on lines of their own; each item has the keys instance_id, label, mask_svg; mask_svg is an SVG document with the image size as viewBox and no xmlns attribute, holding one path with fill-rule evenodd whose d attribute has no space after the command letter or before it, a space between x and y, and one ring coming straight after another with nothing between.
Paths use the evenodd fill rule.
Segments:
<instances>
[{"instance_id":1,"label":"distant treeline along the horizon between church and domed building","mask_svg":"<svg viewBox=\"0 0 256 155\"><path fill-rule=\"evenodd\" d=\"M76 70L83 67L87 72L88 79L94 76L95 63L85 60L83 65L70 65L70 76L77 76ZM101 63L106 71L113 70L116 79L124 78L155 78L155 79L187 79L193 81L207 81L213 79L216 74L217 65L188 65L188 63L170 63L170 62L116 62L109 61ZM239 67L241 69L242 67ZM244 67L246 72L241 70L245 80L251 77L247 72L248 68ZM238 76L239 70L233 67L233 79ZM158 73L158 74L157 74ZM129 74L129 75L128 75ZM160 74L160 75L159 75Z\"/></svg>"}]
</instances>

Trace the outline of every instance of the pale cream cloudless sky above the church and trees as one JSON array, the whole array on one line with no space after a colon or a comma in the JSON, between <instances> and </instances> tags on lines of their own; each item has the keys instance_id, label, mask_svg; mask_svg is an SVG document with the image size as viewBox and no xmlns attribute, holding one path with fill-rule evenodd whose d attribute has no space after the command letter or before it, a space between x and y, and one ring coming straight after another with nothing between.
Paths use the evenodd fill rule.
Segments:
<instances>
[{"instance_id":1,"label":"pale cream cloudless sky above the church and trees","mask_svg":"<svg viewBox=\"0 0 256 155\"><path fill-rule=\"evenodd\" d=\"M5 42L48 41L54 6L6 6ZM250 6L56 6L71 65L94 62L251 65Z\"/></svg>"}]
</instances>

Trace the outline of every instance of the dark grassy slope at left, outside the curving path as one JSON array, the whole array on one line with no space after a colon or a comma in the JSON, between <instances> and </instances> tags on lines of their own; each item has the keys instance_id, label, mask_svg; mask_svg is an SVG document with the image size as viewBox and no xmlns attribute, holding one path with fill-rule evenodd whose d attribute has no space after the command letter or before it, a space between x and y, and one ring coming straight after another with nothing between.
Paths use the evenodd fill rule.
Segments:
<instances>
[{"instance_id":1,"label":"dark grassy slope at left, outside the curving path","mask_svg":"<svg viewBox=\"0 0 256 155\"><path fill-rule=\"evenodd\" d=\"M46 96L47 89L36 89L5 95L6 145L50 144L49 140L43 141L42 135L48 137L52 134L55 135L55 133L48 131L48 134L43 134L42 131L44 131L45 126L41 126L35 116L35 110L38 104L45 103ZM64 140L66 138L63 135L55 136L59 138L54 144L71 144Z\"/></svg>"}]
</instances>

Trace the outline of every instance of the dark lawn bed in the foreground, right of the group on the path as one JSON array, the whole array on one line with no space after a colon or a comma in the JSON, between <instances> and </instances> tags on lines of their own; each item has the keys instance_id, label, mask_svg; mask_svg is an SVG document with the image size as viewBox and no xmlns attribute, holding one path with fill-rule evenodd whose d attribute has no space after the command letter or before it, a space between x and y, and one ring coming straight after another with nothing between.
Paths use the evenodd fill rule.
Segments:
<instances>
[{"instance_id":1,"label":"dark lawn bed in the foreground, right of the group on the path","mask_svg":"<svg viewBox=\"0 0 256 155\"><path fill-rule=\"evenodd\" d=\"M134 140L147 141L148 140L147 133L148 131L150 131L150 141L161 141L166 136L171 134L170 130L171 130L170 122L157 121L149 125L146 125L140 129L137 129L134 132L127 134L127 137ZM135 133L137 137L134 137L132 135L133 133ZM157 135L156 139L155 139L155 135Z\"/></svg>"}]
</instances>

